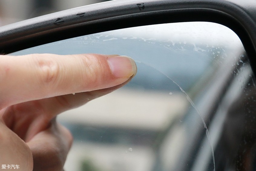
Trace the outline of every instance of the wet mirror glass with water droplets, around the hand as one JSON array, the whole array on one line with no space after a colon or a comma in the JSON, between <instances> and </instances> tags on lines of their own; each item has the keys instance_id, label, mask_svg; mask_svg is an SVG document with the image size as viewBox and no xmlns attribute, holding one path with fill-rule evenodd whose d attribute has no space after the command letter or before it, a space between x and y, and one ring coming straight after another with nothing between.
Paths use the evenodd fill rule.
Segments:
<instances>
[{"instance_id":1,"label":"wet mirror glass with water droplets, around the hand","mask_svg":"<svg viewBox=\"0 0 256 171\"><path fill-rule=\"evenodd\" d=\"M13 55L29 53L127 55L138 67L125 87L58 117L74 136L66 170L255 169L255 79L227 27L148 25Z\"/></svg>"}]
</instances>

